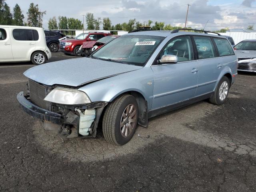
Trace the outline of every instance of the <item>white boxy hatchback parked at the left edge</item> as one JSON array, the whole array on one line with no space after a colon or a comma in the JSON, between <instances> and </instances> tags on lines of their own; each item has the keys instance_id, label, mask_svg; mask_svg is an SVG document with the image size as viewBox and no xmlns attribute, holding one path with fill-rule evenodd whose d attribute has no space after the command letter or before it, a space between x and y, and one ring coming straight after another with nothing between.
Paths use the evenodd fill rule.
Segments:
<instances>
[{"instance_id":1,"label":"white boxy hatchback parked at the left edge","mask_svg":"<svg viewBox=\"0 0 256 192\"><path fill-rule=\"evenodd\" d=\"M31 60L38 65L51 57L43 28L0 25L0 62Z\"/></svg>"}]
</instances>

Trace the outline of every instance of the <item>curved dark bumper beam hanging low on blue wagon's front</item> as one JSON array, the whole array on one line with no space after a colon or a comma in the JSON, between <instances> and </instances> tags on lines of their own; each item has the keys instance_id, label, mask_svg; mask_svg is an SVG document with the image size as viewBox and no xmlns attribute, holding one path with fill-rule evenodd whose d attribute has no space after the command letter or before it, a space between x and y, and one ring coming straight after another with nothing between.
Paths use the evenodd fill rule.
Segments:
<instances>
[{"instance_id":1,"label":"curved dark bumper beam hanging low on blue wagon's front","mask_svg":"<svg viewBox=\"0 0 256 192\"><path fill-rule=\"evenodd\" d=\"M32 104L25 98L23 91L19 92L19 94L17 95L17 100L22 110L28 113L30 116L38 118L43 121L48 121L55 124L62 124L63 118L61 118L60 114L42 109Z\"/></svg>"}]
</instances>

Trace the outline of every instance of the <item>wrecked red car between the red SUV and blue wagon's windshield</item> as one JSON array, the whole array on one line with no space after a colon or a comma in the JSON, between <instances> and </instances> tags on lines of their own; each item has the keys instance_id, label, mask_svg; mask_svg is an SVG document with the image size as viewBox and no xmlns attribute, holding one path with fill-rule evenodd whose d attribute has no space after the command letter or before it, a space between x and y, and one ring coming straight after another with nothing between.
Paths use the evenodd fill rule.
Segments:
<instances>
[{"instance_id":1,"label":"wrecked red car between the red SUV and blue wagon's windshield","mask_svg":"<svg viewBox=\"0 0 256 192\"><path fill-rule=\"evenodd\" d=\"M82 57L88 57L90 54L92 54L94 51L101 48L104 44L114 40L115 38L120 37L120 35L111 35L101 38L98 41L87 41L82 44L79 48L80 56Z\"/></svg>"}]
</instances>

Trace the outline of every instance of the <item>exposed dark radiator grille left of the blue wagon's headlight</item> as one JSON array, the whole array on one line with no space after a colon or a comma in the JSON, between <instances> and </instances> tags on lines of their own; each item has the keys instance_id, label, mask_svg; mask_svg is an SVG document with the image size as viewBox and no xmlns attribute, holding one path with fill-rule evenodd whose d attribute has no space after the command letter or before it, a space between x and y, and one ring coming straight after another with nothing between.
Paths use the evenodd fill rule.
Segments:
<instances>
[{"instance_id":1,"label":"exposed dark radiator grille left of the blue wagon's headlight","mask_svg":"<svg viewBox=\"0 0 256 192\"><path fill-rule=\"evenodd\" d=\"M44 101L47 93L47 88L32 80L28 80L30 90L30 102L36 106L48 110L48 102Z\"/></svg>"}]
</instances>

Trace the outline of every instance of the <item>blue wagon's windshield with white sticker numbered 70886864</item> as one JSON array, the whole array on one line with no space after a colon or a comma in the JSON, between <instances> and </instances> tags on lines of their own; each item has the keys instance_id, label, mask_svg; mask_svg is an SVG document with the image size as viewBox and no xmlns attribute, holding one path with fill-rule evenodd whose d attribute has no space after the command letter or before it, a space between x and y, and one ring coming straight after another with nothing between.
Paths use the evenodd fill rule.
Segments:
<instances>
[{"instance_id":1,"label":"blue wagon's windshield with white sticker numbered 70886864","mask_svg":"<svg viewBox=\"0 0 256 192\"><path fill-rule=\"evenodd\" d=\"M92 58L144 66L165 37L149 35L124 35L109 42Z\"/></svg>"}]
</instances>

